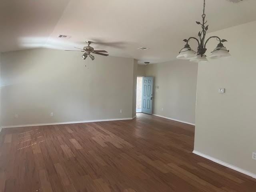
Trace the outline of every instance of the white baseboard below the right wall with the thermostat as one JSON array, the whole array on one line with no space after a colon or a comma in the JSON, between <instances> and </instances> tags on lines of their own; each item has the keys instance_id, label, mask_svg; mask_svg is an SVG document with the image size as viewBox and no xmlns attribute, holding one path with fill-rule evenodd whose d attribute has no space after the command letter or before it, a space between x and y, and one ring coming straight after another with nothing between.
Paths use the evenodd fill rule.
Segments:
<instances>
[{"instance_id":1,"label":"white baseboard below the right wall with the thermostat","mask_svg":"<svg viewBox=\"0 0 256 192\"><path fill-rule=\"evenodd\" d=\"M218 163L218 164L223 165L223 166L225 166L225 167L228 167L228 168L230 168L230 169L236 170L236 171L238 171L238 172L240 172L240 173L246 174L246 175L248 175L248 176L250 176L250 177L256 179L256 174L254 174L254 173L251 173L251 172L248 172L248 171L246 171L246 170L243 170L243 169L241 169L241 168L239 168L239 167L230 165L230 164L228 164L228 163L225 163L225 162L223 162L223 161L221 161L221 160L218 160L218 159L216 159L216 158L213 158L213 157L211 157L211 156L208 156L208 155L206 155L206 154L200 153L200 152L195 151L195 150L193 151L193 153L196 154L196 155L199 155L199 156L201 156L201 157L203 157L203 158L206 158L206 159L208 159L208 160L211 160L211 161L213 161L213 162L215 162L215 163Z\"/></svg>"}]
</instances>

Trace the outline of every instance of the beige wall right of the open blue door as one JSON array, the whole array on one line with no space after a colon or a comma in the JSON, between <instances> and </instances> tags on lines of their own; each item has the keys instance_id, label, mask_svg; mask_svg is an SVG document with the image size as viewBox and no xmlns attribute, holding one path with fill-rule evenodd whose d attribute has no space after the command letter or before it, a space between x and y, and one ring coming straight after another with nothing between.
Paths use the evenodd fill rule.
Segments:
<instances>
[{"instance_id":1,"label":"beige wall right of the open blue door","mask_svg":"<svg viewBox=\"0 0 256 192\"><path fill-rule=\"evenodd\" d=\"M197 65L181 60L146 67L146 76L154 77L154 114L194 124Z\"/></svg>"}]
</instances>

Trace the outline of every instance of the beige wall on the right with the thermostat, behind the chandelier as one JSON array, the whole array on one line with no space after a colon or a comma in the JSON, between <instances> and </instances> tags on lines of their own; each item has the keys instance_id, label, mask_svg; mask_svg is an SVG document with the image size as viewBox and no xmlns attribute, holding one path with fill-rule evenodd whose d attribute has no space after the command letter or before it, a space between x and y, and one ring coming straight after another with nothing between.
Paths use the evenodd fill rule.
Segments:
<instances>
[{"instance_id":1,"label":"beige wall on the right with the thermostat, behind the chandelier","mask_svg":"<svg viewBox=\"0 0 256 192\"><path fill-rule=\"evenodd\" d=\"M256 174L256 22L209 35L225 38L231 58L198 66L194 149ZM208 44L215 48L216 41ZM226 88L218 94L218 88Z\"/></svg>"}]
</instances>

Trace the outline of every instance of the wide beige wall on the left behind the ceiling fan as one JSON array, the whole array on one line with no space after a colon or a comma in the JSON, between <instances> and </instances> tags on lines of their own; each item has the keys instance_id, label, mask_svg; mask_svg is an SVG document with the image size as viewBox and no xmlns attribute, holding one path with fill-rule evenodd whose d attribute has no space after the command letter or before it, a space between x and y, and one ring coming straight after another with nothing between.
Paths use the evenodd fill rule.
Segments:
<instances>
[{"instance_id":1,"label":"wide beige wall on the left behind the ceiling fan","mask_svg":"<svg viewBox=\"0 0 256 192\"><path fill-rule=\"evenodd\" d=\"M2 53L2 125L131 118L133 72L130 58L82 60L80 52L50 49Z\"/></svg>"}]
</instances>

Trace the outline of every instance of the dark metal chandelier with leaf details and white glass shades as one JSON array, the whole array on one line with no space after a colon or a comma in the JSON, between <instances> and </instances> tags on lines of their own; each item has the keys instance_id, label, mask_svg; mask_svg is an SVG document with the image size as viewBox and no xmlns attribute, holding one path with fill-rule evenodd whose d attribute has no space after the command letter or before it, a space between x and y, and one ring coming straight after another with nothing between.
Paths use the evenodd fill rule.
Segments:
<instances>
[{"instance_id":1,"label":"dark metal chandelier with leaf details and white glass shades","mask_svg":"<svg viewBox=\"0 0 256 192\"><path fill-rule=\"evenodd\" d=\"M210 38L205 40L206 32L208 30L208 25L205 26L205 24L207 23L207 20L205 20L206 14L204 12L205 12L205 0L204 0L204 9L203 9L203 14L202 14L203 22L201 23L201 22L196 21L196 24L202 26L202 31L200 31L198 33L199 39L195 38L195 37L190 37L188 39L184 39L183 41L186 42L186 45L184 46L184 48L182 48L180 50L180 54L177 56L177 59L190 60L191 62L208 62L208 59L206 58L206 54L205 54L205 52L207 50L206 44L212 38L216 38L216 40L219 41L219 44L211 52L209 58L218 59L218 58L226 58L226 57L231 56L229 53L229 50L227 50L226 47L224 47L224 45L222 44L223 42L226 42L227 40L220 39L218 36L211 36ZM197 52L192 50L188 44L188 42L192 39L196 40L198 42Z\"/></svg>"}]
</instances>

